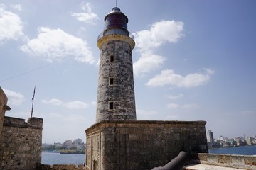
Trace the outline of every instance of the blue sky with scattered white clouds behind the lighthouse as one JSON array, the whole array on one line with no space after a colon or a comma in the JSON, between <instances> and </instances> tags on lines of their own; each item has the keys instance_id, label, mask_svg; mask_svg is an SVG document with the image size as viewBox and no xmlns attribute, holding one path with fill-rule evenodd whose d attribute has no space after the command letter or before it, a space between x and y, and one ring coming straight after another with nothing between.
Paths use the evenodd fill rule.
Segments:
<instances>
[{"instance_id":1,"label":"blue sky with scattered white clouds behind the lighthouse","mask_svg":"<svg viewBox=\"0 0 256 170\"><path fill-rule=\"evenodd\" d=\"M43 142L95 123L97 36L115 1L0 1L6 116L43 118ZM206 120L215 138L254 136L256 1L117 1L135 36L139 120Z\"/></svg>"}]
</instances>

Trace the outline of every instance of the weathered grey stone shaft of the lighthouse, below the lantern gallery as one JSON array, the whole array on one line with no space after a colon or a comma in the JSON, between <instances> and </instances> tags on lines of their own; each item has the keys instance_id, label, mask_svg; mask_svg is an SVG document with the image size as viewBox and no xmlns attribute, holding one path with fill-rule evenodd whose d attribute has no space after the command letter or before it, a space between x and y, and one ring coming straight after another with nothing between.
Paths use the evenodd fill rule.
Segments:
<instances>
[{"instance_id":1,"label":"weathered grey stone shaft of the lighthouse, below the lantern gallery","mask_svg":"<svg viewBox=\"0 0 256 170\"><path fill-rule=\"evenodd\" d=\"M135 120L132 47L124 35L107 35L100 47L100 69L97 89L96 122L101 120ZM132 38L129 38L132 40ZM114 55L114 61L110 61ZM114 83L110 84L110 78ZM113 103L110 109L109 103Z\"/></svg>"}]
</instances>

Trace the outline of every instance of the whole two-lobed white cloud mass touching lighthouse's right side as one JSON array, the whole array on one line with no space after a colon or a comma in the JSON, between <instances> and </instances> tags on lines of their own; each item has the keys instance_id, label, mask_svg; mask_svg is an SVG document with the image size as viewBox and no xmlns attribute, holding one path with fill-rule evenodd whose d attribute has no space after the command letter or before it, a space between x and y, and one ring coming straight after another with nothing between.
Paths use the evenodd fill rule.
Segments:
<instances>
[{"instance_id":1,"label":"whole two-lobed white cloud mass touching lighthouse's right side","mask_svg":"<svg viewBox=\"0 0 256 170\"><path fill-rule=\"evenodd\" d=\"M149 30L134 33L137 50L141 53L134 63L134 76L159 69L166 60L165 57L154 54L154 50L166 42L177 42L183 37L183 23L176 21L160 21L154 23Z\"/></svg>"}]
</instances>

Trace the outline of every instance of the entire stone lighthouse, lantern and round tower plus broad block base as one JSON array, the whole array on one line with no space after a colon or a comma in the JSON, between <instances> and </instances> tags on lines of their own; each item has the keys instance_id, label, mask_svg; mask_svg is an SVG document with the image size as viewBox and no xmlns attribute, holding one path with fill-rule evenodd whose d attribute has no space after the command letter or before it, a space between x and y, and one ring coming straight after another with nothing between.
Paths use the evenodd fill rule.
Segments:
<instances>
[{"instance_id":1,"label":"entire stone lighthouse, lantern and round tower plus broad block base","mask_svg":"<svg viewBox=\"0 0 256 170\"><path fill-rule=\"evenodd\" d=\"M208 152L205 121L136 120L128 18L114 7L100 33L96 123L85 130L86 170L163 166L183 150Z\"/></svg>"}]
</instances>

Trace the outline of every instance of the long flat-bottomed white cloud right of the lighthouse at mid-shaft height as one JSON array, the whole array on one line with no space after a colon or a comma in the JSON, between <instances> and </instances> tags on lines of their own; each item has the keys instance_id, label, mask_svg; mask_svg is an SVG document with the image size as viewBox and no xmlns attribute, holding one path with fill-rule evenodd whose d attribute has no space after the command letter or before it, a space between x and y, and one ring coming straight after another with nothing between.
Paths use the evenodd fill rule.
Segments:
<instances>
[{"instance_id":1,"label":"long flat-bottomed white cloud right of the lighthouse at mid-shaft height","mask_svg":"<svg viewBox=\"0 0 256 170\"><path fill-rule=\"evenodd\" d=\"M206 84L210 80L210 74L200 74L193 73L188 74L185 77L175 74L174 70L165 69L161 71L161 74L156 75L154 78L150 79L146 85L147 86L178 86L178 87L193 87L201 86Z\"/></svg>"}]
</instances>

